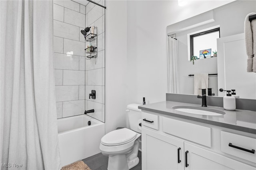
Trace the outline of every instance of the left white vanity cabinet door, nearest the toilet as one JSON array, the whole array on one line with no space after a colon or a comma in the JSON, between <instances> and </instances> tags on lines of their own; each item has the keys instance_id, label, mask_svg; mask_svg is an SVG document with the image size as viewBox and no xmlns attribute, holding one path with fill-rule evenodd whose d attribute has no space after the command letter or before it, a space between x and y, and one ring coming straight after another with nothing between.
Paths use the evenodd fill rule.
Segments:
<instances>
[{"instance_id":1,"label":"left white vanity cabinet door, nearest the toilet","mask_svg":"<svg viewBox=\"0 0 256 170\"><path fill-rule=\"evenodd\" d=\"M183 141L142 128L143 170L184 170L183 153Z\"/></svg>"}]
</instances>

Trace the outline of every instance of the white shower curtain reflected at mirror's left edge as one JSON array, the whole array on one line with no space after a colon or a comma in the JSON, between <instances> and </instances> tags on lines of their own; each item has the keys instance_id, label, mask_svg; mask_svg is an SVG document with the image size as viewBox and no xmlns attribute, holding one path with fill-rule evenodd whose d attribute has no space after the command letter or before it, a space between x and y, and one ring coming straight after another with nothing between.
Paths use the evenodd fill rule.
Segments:
<instances>
[{"instance_id":1,"label":"white shower curtain reflected at mirror's left edge","mask_svg":"<svg viewBox=\"0 0 256 170\"><path fill-rule=\"evenodd\" d=\"M178 40L168 36L168 92L180 93Z\"/></svg>"}]
</instances>

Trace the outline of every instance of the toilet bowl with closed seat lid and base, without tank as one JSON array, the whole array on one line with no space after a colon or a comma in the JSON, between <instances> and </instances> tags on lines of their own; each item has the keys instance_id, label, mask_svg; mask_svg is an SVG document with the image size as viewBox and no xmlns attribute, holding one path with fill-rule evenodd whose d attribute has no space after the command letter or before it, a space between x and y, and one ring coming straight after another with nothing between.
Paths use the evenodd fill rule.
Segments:
<instances>
[{"instance_id":1,"label":"toilet bowl with closed seat lid and base, without tank","mask_svg":"<svg viewBox=\"0 0 256 170\"><path fill-rule=\"evenodd\" d=\"M138 138L141 134L127 128L103 136L100 150L108 156L108 170L129 170L139 163Z\"/></svg>"}]
</instances>

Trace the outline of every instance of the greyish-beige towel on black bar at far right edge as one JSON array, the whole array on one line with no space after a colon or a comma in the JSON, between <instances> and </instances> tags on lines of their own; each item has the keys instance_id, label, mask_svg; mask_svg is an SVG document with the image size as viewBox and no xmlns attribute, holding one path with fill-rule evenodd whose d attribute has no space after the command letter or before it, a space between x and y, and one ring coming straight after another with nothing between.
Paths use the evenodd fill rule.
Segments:
<instances>
[{"instance_id":1,"label":"greyish-beige towel on black bar at far right edge","mask_svg":"<svg viewBox=\"0 0 256 170\"><path fill-rule=\"evenodd\" d=\"M248 14L244 20L247 72L256 72L256 20L249 21L249 16L254 14L256 13Z\"/></svg>"}]
</instances>

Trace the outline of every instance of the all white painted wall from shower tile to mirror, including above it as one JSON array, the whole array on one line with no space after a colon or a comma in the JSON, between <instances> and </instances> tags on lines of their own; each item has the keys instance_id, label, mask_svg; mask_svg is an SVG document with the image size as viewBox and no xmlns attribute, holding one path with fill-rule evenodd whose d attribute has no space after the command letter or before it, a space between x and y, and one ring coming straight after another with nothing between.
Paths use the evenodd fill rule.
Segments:
<instances>
[{"instance_id":1,"label":"all white painted wall from shower tile to mirror, including above it","mask_svg":"<svg viewBox=\"0 0 256 170\"><path fill-rule=\"evenodd\" d=\"M210 8L227 2L212 1ZM146 104L166 100L166 26L206 12L192 6L178 7L172 0L106 0L106 132L128 126L127 104L142 104L143 97Z\"/></svg>"}]
</instances>

